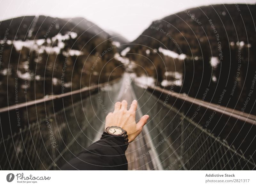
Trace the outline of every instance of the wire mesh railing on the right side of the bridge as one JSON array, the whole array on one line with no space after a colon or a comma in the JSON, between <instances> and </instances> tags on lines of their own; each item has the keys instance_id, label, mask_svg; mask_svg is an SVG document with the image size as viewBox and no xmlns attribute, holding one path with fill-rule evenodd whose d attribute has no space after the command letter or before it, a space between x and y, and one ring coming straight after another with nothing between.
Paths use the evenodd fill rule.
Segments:
<instances>
[{"instance_id":1,"label":"wire mesh railing on the right side of the bridge","mask_svg":"<svg viewBox=\"0 0 256 186\"><path fill-rule=\"evenodd\" d=\"M165 170L253 170L252 157L244 157L227 141L215 137L171 105L132 83Z\"/></svg>"}]
</instances>

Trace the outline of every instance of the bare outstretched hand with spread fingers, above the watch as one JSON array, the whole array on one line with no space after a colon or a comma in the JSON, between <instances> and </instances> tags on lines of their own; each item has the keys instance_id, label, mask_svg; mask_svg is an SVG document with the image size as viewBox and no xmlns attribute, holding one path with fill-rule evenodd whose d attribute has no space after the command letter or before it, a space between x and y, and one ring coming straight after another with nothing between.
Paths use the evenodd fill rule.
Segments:
<instances>
[{"instance_id":1,"label":"bare outstretched hand with spread fingers, above the watch","mask_svg":"<svg viewBox=\"0 0 256 186\"><path fill-rule=\"evenodd\" d=\"M128 142L131 143L142 131L149 116L144 115L136 124L135 112L137 109L137 101L133 100L130 109L127 111L127 101L116 102L114 112L109 112L106 117L105 129L109 126L118 126L126 130L128 135Z\"/></svg>"}]
</instances>

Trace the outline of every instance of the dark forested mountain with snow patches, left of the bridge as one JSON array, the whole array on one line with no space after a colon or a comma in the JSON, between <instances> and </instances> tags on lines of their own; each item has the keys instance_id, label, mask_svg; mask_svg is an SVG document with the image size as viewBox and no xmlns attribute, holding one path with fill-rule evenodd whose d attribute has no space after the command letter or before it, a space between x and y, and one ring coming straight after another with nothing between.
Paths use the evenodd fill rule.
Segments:
<instances>
[{"instance_id":1,"label":"dark forested mountain with snow patches, left of the bridge","mask_svg":"<svg viewBox=\"0 0 256 186\"><path fill-rule=\"evenodd\" d=\"M16 89L22 103L111 81L124 72L114 40L84 18L3 20L0 43L2 107L15 104Z\"/></svg>"}]
</instances>

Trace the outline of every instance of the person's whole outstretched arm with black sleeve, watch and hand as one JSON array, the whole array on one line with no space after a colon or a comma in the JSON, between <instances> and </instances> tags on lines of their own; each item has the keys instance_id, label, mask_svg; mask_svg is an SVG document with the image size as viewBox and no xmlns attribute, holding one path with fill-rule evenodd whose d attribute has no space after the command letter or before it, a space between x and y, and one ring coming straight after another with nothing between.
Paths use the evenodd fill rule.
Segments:
<instances>
[{"instance_id":1,"label":"person's whole outstretched arm with black sleeve, watch and hand","mask_svg":"<svg viewBox=\"0 0 256 186\"><path fill-rule=\"evenodd\" d=\"M114 112L106 117L103 137L81 152L62 170L127 170L125 150L141 132L149 116L144 115L136 124L137 101L127 110L127 101L116 102ZM105 136L108 135L108 136Z\"/></svg>"}]
</instances>

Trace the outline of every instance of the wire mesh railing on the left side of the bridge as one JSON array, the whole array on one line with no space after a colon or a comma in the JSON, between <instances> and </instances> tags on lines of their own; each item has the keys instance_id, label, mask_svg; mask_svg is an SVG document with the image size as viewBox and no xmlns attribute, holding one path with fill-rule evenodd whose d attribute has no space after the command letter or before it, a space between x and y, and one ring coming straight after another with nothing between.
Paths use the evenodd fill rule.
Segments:
<instances>
[{"instance_id":1,"label":"wire mesh railing on the left side of the bridge","mask_svg":"<svg viewBox=\"0 0 256 186\"><path fill-rule=\"evenodd\" d=\"M88 147L113 107L121 81L99 89L0 141L2 170L58 170ZM64 98L63 98L64 99Z\"/></svg>"}]
</instances>

